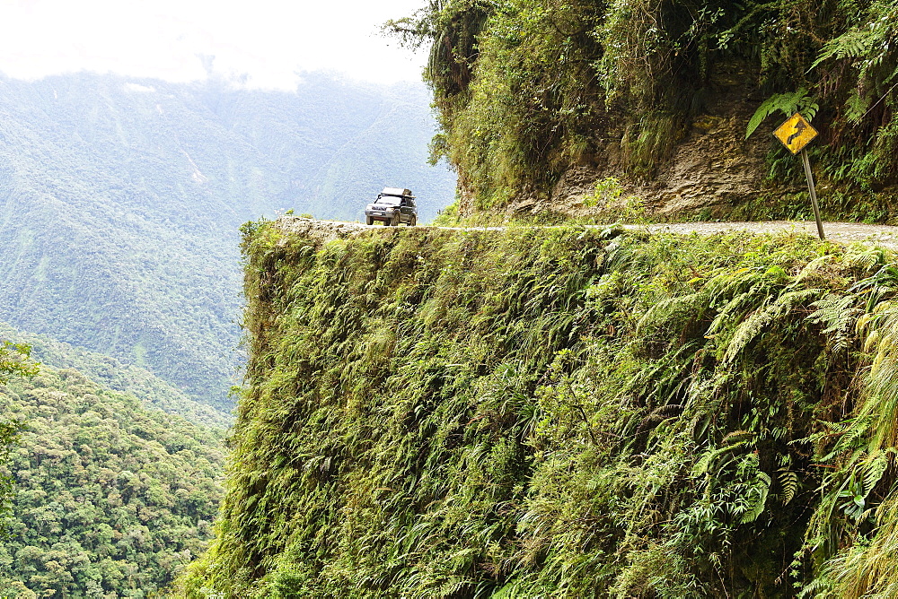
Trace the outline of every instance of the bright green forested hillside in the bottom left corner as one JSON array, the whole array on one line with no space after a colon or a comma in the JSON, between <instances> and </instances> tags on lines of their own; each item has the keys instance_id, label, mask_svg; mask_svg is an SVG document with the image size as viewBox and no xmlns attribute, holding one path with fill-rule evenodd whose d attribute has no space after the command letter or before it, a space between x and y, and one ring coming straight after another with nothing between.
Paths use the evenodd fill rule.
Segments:
<instances>
[{"instance_id":1,"label":"bright green forested hillside in the bottom left corner","mask_svg":"<svg viewBox=\"0 0 898 599\"><path fill-rule=\"evenodd\" d=\"M0 466L4 597L149 597L206 548L220 431L46 366L0 386L0 413L23 425Z\"/></svg>"}]
</instances>

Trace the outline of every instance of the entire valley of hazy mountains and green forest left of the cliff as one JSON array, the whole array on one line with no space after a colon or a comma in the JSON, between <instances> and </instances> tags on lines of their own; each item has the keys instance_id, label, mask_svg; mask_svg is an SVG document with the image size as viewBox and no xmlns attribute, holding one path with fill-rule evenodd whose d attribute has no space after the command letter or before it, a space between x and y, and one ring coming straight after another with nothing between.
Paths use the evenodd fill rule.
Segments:
<instances>
[{"instance_id":1,"label":"entire valley of hazy mountains and green forest left of the cliff","mask_svg":"<svg viewBox=\"0 0 898 599\"><path fill-rule=\"evenodd\" d=\"M358 221L397 181L432 219L454 178L427 165L427 101L323 74L0 78L0 337L40 362L0 387L23 426L0 596L158 596L204 551L245 361L240 226Z\"/></svg>"}]
</instances>

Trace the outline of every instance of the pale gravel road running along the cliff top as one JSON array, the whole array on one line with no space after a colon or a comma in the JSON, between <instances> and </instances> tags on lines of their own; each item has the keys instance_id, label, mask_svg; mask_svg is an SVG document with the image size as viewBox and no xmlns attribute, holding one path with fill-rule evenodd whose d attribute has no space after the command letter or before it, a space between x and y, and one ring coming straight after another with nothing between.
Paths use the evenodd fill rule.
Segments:
<instances>
[{"instance_id":1,"label":"pale gravel road running along the cliff top","mask_svg":"<svg viewBox=\"0 0 898 599\"><path fill-rule=\"evenodd\" d=\"M316 221L293 215L284 215L278 220L282 230L314 234L322 239L339 239L356 235L366 230L396 230L383 225L365 225L360 222ZM585 225L591 229L601 229L608 225ZM628 230L647 230L651 233L674 233L680 235L713 235L727 231L748 231L752 233L803 233L817 235L814 221L753 221L753 222L673 222L647 225L622 224ZM405 227L401 227L405 229ZM462 230L462 227L440 227L447 230ZM471 227L477 230L503 230L505 227ZM864 243L870 246L887 247L898 251L898 227L869 225L858 222L824 222L826 239L842 243Z\"/></svg>"}]
</instances>

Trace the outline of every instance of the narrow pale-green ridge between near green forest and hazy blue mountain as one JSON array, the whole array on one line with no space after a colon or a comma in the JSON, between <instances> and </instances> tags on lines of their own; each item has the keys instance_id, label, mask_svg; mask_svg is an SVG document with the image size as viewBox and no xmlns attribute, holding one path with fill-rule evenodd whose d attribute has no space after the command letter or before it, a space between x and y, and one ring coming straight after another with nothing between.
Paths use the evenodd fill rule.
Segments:
<instances>
[{"instance_id":1,"label":"narrow pale-green ridge between near green forest and hazy blue mountain","mask_svg":"<svg viewBox=\"0 0 898 599\"><path fill-rule=\"evenodd\" d=\"M227 429L233 422L231 414L200 404L183 391L154 377L145 369L123 364L115 358L88 352L69 343L62 343L46 335L22 333L0 322L0 339L27 343L31 358L52 369L75 369L92 381L113 391L134 395L147 406L163 412L178 414L196 424L215 429Z\"/></svg>"}]
</instances>

